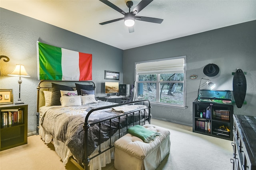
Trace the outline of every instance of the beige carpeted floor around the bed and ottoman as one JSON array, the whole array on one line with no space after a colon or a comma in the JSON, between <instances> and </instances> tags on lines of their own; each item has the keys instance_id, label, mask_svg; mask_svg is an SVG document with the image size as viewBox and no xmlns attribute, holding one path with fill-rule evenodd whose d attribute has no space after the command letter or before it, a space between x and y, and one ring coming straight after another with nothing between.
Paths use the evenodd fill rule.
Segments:
<instances>
[{"instance_id":1,"label":"beige carpeted floor around the bed and ottoman","mask_svg":"<svg viewBox=\"0 0 256 170\"><path fill-rule=\"evenodd\" d=\"M151 124L171 133L170 154L157 170L232 170L231 141L192 132L192 127L152 119ZM39 135L28 137L28 144L0 152L0 170L78 170L68 162L63 166L53 145ZM115 170L114 161L102 170Z\"/></svg>"}]
</instances>

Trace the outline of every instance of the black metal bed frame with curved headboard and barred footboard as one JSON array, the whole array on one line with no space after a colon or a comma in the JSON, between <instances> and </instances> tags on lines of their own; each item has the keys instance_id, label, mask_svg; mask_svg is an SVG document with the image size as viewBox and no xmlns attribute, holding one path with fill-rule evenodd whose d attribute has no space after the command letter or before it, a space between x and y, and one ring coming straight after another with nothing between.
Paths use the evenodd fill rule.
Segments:
<instances>
[{"instance_id":1,"label":"black metal bed frame with curved headboard and barred footboard","mask_svg":"<svg viewBox=\"0 0 256 170\"><path fill-rule=\"evenodd\" d=\"M50 89L51 87L40 87L40 84L42 82L69 82L69 83L75 83L75 82L84 82L84 83L92 83L94 85L94 89L95 89L95 84L94 82L92 81L61 81L61 80L41 80L39 83L38 83L38 86L37 86L37 112L36 112L36 135L39 135L39 95L40 95L40 88L48 88ZM117 115L117 116L114 116L114 117L111 117L111 118L108 118L108 119L104 119L104 120L101 120L101 121L98 121L98 122L94 122L94 123L89 123L88 122L88 119L89 119L89 116L94 112L94 111L97 111L97 110L101 110L101 109L108 109L108 108L112 108L112 107L116 107L116 106L123 106L123 105L132 105L132 104L139 104L141 102L148 102L148 106L146 108L141 108L141 109L137 109L136 111L130 111L130 112L127 112L127 113L123 113L122 115ZM146 109L148 109L148 118L146 118ZM124 103L124 104L115 104L115 105L110 105L110 106L103 106L103 107L96 107L96 108L93 108L91 109L86 117L85 117L85 120L84 120L84 125L83 125L83 129L84 129L84 160L83 160L83 164L84 164L84 170L88 170L88 165L90 163L90 160L92 160L93 158L95 158L96 156L99 156L100 154L106 152L107 150L111 149L114 147L114 145L112 145L111 143L111 121L112 119L116 119L118 118L118 139L121 137L120 136L120 118L125 116L126 117L126 130L128 129L128 115L131 115L132 114L132 119L133 119L133 126L135 125L135 119L134 119L134 114L135 112L138 112L138 117L139 117L139 122L138 124L140 124L140 116L141 116L141 112L144 112L144 123L146 122L146 120L148 121L148 123L150 123L150 119L151 119L151 114L150 114L150 109L151 109L151 105L150 105L150 101L149 100L139 100L139 101L133 101L133 102L128 102L128 103ZM143 113L142 113L143 114ZM109 129L109 134L110 134L110 145L107 149L104 149L104 150L101 150L101 147L99 145L99 153L92 156L91 158L89 158L90 155L88 155L88 131L89 131L89 128L91 125L94 125L94 124L99 124L99 128L101 127L101 124L102 122L105 122L105 121L109 121L110 122L110 129ZM100 129L99 129L99 140L100 140ZM99 142L101 143L101 142ZM75 161L75 160L74 160ZM75 161L76 162L76 161Z\"/></svg>"}]
</instances>

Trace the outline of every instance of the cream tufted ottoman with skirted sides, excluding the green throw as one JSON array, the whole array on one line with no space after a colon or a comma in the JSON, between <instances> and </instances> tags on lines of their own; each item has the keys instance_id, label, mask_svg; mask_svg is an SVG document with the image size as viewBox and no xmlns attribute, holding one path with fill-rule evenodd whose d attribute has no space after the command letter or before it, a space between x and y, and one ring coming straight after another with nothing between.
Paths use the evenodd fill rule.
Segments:
<instances>
[{"instance_id":1,"label":"cream tufted ottoman with skirted sides, excluding the green throw","mask_svg":"<svg viewBox=\"0 0 256 170\"><path fill-rule=\"evenodd\" d=\"M129 133L118 139L114 143L117 170L155 170L170 153L170 132L155 125L143 126L160 133L160 136L150 143L144 143Z\"/></svg>"}]
</instances>

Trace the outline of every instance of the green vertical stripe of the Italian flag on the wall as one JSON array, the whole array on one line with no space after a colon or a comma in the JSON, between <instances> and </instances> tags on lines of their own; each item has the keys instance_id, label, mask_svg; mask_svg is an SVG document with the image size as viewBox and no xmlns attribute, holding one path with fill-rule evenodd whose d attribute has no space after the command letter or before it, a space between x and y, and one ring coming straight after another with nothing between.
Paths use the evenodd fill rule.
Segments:
<instances>
[{"instance_id":1,"label":"green vertical stripe of the Italian flag on the wall","mask_svg":"<svg viewBox=\"0 0 256 170\"><path fill-rule=\"evenodd\" d=\"M62 80L61 48L38 42L40 80Z\"/></svg>"}]
</instances>

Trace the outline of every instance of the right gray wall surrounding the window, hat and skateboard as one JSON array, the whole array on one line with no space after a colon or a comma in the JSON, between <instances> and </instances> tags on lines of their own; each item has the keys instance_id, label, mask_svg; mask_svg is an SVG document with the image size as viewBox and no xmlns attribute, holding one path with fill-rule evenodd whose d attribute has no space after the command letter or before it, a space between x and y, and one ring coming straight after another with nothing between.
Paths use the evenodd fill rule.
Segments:
<instances>
[{"instance_id":1,"label":"right gray wall surrounding the window, hat and skateboard","mask_svg":"<svg viewBox=\"0 0 256 170\"><path fill-rule=\"evenodd\" d=\"M218 90L232 90L232 72L236 68L247 72L247 104L240 109L234 106L234 113L256 116L256 21L124 50L124 83L134 81L135 62L182 55L187 56L187 108L152 106L154 118L192 125L192 102L197 97L200 78L209 78L217 84ZM209 63L219 66L217 76L204 75L203 68ZM191 80L192 74L198 78Z\"/></svg>"}]
</instances>

